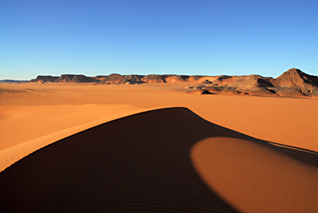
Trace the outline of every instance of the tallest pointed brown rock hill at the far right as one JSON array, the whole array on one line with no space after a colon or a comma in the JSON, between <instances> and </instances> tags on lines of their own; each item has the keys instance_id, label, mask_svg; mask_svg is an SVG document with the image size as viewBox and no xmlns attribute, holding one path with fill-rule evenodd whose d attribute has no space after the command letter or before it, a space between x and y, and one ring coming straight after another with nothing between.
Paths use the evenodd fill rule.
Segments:
<instances>
[{"instance_id":1,"label":"tallest pointed brown rock hill at the far right","mask_svg":"<svg viewBox=\"0 0 318 213\"><path fill-rule=\"evenodd\" d=\"M307 75L297 68L291 68L270 81L275 87L293 88L306 95L310 95L312 90L318 90L318 77Z\"/></svg>"}]
</instances>

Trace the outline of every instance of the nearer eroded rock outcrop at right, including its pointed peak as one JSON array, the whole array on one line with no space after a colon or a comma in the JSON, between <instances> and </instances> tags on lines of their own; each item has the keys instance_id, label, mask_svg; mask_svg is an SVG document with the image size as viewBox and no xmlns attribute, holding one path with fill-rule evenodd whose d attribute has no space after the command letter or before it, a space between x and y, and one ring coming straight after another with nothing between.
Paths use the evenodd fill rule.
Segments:
<instances>
[{"instance_id":1,"label":"nearer eroded rock outcrop at right, including its pointed peak","mask_svg":"<svg viewBox=\"0 0 318 213\"><path fill-rule=\"evenodd\" d=\"M318 77L292 68L278 78L261 75L221 75L213 80L219 85L202 85L201 90L233 95L318 97ZM194 88L194 87L189 87Z\"/></svg>"}]
</instances>

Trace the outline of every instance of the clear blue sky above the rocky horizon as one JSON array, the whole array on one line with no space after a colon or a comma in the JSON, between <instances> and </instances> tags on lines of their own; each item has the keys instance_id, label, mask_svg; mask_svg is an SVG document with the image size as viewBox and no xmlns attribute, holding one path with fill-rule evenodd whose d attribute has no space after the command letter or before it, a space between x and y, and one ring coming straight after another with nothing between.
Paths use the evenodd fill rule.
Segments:
<instances>
[{"instance_id":1,"label":"clear blue sky above the rocky horizon","mask_svg":"<svg viewBox=\"0 0 318 213\"><path fill-rule=\"evenodd\" d=\"M317 0L0 0L0 79L318 75L317 11Z\"/></svg>"}]
</instances>

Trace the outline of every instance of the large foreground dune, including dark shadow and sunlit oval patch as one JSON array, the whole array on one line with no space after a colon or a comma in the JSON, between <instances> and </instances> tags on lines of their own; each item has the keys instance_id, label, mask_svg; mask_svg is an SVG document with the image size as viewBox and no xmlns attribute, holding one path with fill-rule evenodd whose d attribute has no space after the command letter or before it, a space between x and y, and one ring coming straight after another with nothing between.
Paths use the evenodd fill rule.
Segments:
<instances>
[{"instance_id":1,"label":"large foreground dune, including dark shadow and sunlit oval patch","mask_svg":"<svg viewBox=\"0 0 318 213\"><path fill-rule=\"evenodd\" d=\"M189 109L158 109L8 167L0 212L314 212L317 166L316 152L271 145Z\"/></svg>"}]
</instances>

